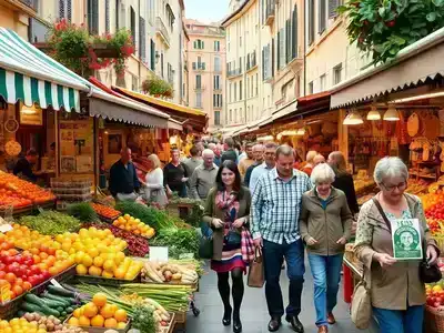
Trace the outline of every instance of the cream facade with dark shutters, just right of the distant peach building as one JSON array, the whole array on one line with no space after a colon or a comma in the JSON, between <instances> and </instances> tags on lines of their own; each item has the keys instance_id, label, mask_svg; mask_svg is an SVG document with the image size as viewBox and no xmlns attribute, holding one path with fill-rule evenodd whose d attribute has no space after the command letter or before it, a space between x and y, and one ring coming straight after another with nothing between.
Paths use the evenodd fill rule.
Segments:
<instances>
[{"instance_id":1,"label":"cream facade with dark shutters, just right of the distant peach building","mask_svg":"<svg viewBox=\"0 0 444 333\"><path fill-rule=\"evenodd\" d=\"M302 0L232 0L226 29L224 123L260 122L287 107L304 84Z\"/></svg>"}]
</instances>

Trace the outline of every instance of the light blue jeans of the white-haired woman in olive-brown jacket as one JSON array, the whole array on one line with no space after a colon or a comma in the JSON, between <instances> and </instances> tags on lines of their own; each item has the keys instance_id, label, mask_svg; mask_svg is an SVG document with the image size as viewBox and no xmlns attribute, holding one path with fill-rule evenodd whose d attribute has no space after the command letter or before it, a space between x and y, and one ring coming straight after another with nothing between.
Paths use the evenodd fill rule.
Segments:
<instances>
[{"instance_id":1,"label":"light blue jeans of the white-haired woman in olive-brown jacket","mask_svg":"<svg viewBox=\"0 0 444 333\"><path fill-rule=\"evenodd\" d=\"M316 325L327 326L327 314L337 303L343 254L319 255L309 253L310 268L314 280L314 307Z\"/></svg>"}]
</instances>

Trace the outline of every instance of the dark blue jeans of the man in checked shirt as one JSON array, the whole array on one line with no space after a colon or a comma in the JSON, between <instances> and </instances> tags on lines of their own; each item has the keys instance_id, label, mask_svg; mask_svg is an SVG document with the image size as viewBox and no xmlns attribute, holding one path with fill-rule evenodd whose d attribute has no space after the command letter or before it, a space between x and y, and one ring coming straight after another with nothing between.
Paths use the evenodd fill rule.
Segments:
<instances>
[{"instance_id":1,"label":"dark blue jeans of the man in checked shirt","mask_svg":"<svg viewBox=\"0 0 444 333\"><path fill-rule=\"evenodd\" d=\"M289 300L286 315L297 316L301 313L301 296L304 283L304 248L302 240L291 244L278 244L263 241L263 259L265 270L265 297L269 313L272 317L284 314L282 291L280 285L281 268L283 259L286 261L286 274L290 280Z\"/></svg>"}]
</instances>

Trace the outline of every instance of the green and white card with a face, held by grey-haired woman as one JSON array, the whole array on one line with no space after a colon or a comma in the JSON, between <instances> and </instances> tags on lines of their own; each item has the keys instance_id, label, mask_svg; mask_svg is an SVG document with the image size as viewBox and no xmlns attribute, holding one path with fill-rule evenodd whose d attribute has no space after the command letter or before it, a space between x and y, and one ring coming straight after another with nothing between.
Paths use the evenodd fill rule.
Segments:
<instances>
[{"instance_id":1,"label":"green and white card with a face, held by grey-haired woman","mask_svg":"<svg viewBox=\"0 0 444 333\"><path fill-rule=\"evenodd\" d=\"M393 256L397 260L422 260L420 221L397 219L392 221Z\"/></svg>"}]
</instances>

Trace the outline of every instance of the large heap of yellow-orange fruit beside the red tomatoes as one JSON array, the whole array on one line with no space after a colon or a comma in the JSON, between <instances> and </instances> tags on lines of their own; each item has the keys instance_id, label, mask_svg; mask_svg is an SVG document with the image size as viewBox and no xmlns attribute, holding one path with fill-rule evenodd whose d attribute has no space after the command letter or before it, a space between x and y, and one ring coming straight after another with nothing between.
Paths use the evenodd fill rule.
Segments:
<instances>
[{"instance_id":1,"label":"large heap of yellow-orange fruit beside the red tomatoes","mask_svg":"<svg viewBox=\"0 0 444 333\"><path fill-rule=\"evenodd\" d=\"M74 242L69 234L58 235L57 241L62 242L62 248L70 248L79 275L133 280L142 269L140 262L123 253L127 242L114 238L108 229L81 229Z\"/></svg>"}]
</instances>

